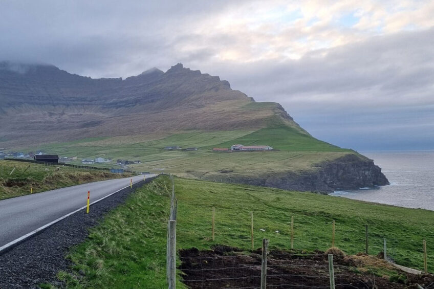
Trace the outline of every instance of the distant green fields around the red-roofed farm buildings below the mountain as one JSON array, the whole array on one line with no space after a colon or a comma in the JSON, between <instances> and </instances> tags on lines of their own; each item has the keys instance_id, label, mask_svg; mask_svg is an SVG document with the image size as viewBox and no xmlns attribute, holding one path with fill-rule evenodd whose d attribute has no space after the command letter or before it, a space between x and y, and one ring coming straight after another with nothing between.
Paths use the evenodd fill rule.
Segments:
<instances>
[{"instance_id":1,"label":"distant green fields around the red-roofed farm buildings below the mountain","mask_svg":"<svg viewBox=\"0 0 434 289\"><path fill-rule=\"evenodd\" d=\"M276 150L269 152L213 152L212 147L230 147L235 143L244 145L271 145ZM166 146L182 148L197 147L197 151L165 150ZM37 148L33 148L37 149ZM348 153L290 126L264 128L257 131L191 131L171 136L150 135L84 139L63 144L49 145L50 153L79 158L104 157L125 160L140 160L129 165L136 171L175 173L184 177L208 180L228 180L232 176L254 176L261 173L301 171L315 169L315 164L331 161ZM95 164L113 167L115 164ZM228 171L220 174L219 171Z\"/></svg>"}]
</instances>

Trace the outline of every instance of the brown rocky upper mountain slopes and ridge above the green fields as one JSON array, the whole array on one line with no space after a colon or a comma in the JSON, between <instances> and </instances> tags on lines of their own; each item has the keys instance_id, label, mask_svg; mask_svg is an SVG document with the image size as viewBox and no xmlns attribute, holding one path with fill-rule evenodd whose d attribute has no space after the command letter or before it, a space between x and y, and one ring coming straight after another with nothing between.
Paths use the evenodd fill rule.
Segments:
<instances>
[{"instance_id":1,"label":"brown rocky upper mountain slopes and ridge above the green fields","mask_svg":"<svg viewBox=\"0 0 434 289\"><path fill-rule=\"evenodd\" d=\"M288 125L304 131L279 104L261 108L257 114L241 109L254 102L253 98L232 90L229 82L220 80L218 76L184 68L181 63L173 65L165 73L151 69L125 79L93 79L69 74L54 65L32 65L27 70L20 66L20 72L5 67L7 64L2 62L0 120L14 121L15 124L3 126L0 138L10 140L8 143L15 146L24 145L29 140L38 142L34 134L37 130L43 131L48 141L73 140L62 132L53 139L51 132L68 126L71 130L90 128L76 124L81 121L84 124L95 121L107 124L100 132L82 130L83 138L95 134L119 136L121 129L117 123L120 117L128 119L126 123L121 121L128 134L149 132L151 129L140 125L142 121L154 124L154 130L160 126L173 131L206 130L208 126L209 129L221 130L257 129L267 126L267 117L282 118ZM191 114L189 120L208 121L201 125L173 113L166 116L170 111L179 114L180 110L185 110L183 115ZM38 122L40 119L44 121ZM167 125L162 125L163 120ZM16 134L16 130L21 131L20 134ZM23 132L27 135L26 140L20 138ZM75 134L79 133L75 131Z\"/></svg>"}]
</instances>

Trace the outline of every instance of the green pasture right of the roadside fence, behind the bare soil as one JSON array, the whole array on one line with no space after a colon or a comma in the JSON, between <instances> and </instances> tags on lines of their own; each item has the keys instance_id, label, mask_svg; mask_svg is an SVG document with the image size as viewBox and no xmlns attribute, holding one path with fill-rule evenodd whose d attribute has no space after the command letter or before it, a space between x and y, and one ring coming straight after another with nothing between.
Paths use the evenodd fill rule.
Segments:
<instances>
[{"instance_id":1,"label":"green pasture right of the roadside fence, behind the bare soil","mask_svg":"<svg viewBox=\"0 0 434 289\"><path fill-rule=\"evenodd\" d=\"M432 211L181 178L175 184L179 204L177 238L182 248L187 244L199 249L227 244L250 249L250 212L253 212L255 248L261 247L262 238L269 238L272 248L289 249L290 221L294 216L294 248L327 250L331 247L335 220L335 246L345 253L364 252L367 224L370 254L382 252L386 237L390 258L398 264L423 269L425 238L428 266L434 270ZM215 242L210 241L212 207L215 207Z\"/></svg>"}]
</instances>

